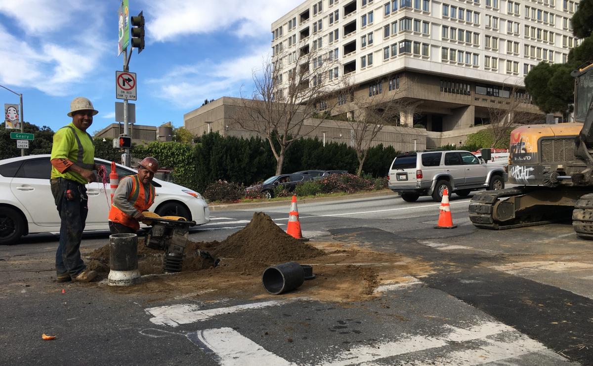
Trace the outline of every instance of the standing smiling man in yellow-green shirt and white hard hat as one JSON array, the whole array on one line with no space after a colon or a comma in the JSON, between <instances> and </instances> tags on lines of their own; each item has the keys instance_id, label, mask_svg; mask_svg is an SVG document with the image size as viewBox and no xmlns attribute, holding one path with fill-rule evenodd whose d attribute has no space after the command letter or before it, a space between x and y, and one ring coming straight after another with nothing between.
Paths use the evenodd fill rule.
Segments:
<instances>
[{"instance_id":1,"label":"standing smiling man in yellow-green shirt and white hard hat","mask_svg":"<svg viewBox=\"0 0 593 366\"><path fill-rule=\"evenodd\" d=\"M97 272L87 269L80 256L82 231L88 214L88 196L85 184L97 177L95 147L87 129L93 124L98 111L87 98L74 98L68 117L72 123L53 135L52 172L50 185L60 215L60 243L56 251L58 282L88 282Z\"/></svg>"}]
</instances>

